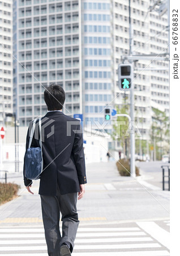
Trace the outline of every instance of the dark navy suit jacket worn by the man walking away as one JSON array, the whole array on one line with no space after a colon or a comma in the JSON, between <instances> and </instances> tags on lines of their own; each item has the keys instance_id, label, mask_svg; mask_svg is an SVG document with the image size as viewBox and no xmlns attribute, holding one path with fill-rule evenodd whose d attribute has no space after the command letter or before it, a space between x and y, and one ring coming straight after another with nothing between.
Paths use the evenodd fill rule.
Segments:
<instances>
[{"instance_id":1,"label":"dark navy suit jacket worn by the man walking away","mask_svg":"<svg viewBox=\"0 0 180 256\"><path fill-rule=\"evenodd\" d=\"M32 127L32 122L29 127ZM37 121L38 122L38 121ZM83 150L83 134L80 122L62 112L48 112L42 117L42 156L44 171L40 177L40 195L55 196L57 185L62 195L79 192L79 184L87 183ZM26 151L29 144L28 128ZM39 147L38 123L31 147ZM24 156L25 163L25 156ZM24 185L32 180L25 177Z\"/></svg>"}]
</instances>

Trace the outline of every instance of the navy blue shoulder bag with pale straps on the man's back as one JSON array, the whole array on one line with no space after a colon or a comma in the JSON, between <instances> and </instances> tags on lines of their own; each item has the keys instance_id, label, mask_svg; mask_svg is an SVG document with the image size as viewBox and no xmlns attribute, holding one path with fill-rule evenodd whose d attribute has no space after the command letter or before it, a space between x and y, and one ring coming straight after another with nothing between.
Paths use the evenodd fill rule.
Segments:
<instances>
[{"instance_id":1,"label":"navy blue shoulder bag with pale straps on the man's back","mask_svg":"<svg viewBox=\"0 0 180 256\"><path fill-rule=\"evenodd\" d=\"M38 119L38 127L40 131L40 147L31 147L33 134L35 133L36 120L33 121L31 135L29 138L29 146L25 155L25 177L29 180L37 180L43 171L42 158L42 141L41 141L41 118Z\"/></svg>"}]
</instances>

